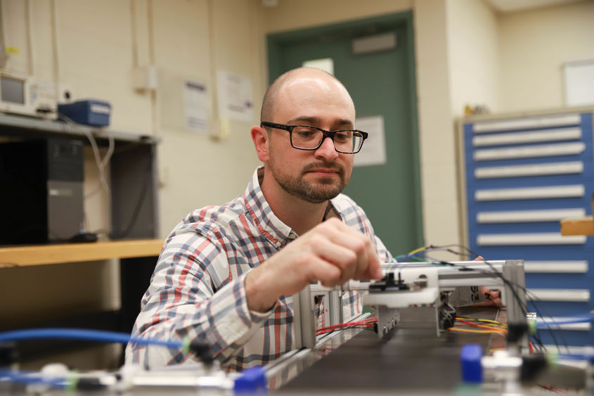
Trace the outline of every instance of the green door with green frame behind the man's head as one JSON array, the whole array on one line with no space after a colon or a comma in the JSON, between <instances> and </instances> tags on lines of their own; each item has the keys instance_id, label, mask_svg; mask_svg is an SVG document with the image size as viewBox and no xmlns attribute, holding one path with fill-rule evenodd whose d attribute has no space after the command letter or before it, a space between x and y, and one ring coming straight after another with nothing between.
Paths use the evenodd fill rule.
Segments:
<instances>
[{"instance_id":1,"label":"green door with green frame behind the man's head","mask_svg":"<svg viewBox=\"0 0 594 396\"><path fill-rule=\"evenodd\" d=\"M390 34L395 34L395 47L354 53L354 39ZM394 256L423 244L413 42L411 13L268 37L271 82L307 60L331 58L334 75L353 97L357 118L383 117L386 162L355 166L344 193L363 207ZM373 132L366 144L371 139Z\"/></svg>"}]
</instances>

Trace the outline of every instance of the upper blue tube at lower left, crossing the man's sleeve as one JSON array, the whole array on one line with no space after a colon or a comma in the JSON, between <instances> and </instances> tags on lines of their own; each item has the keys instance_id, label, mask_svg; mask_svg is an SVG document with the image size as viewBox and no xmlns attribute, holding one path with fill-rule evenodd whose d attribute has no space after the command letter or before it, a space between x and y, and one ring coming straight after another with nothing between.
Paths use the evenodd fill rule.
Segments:
<instances>
[{"instance_id":1,"label":"upper blue tube at lower left, crossing the man's sleeve","mask_svg":"<svg viewBox=\"0 0 594 396\"><path fill-rule=\"evenodd\" d=\"M0 333L0 343L39 338L66 338L76 340L103 341L108 343L136 343L141 345L162 345L170 348L183 348L186 343L155 338L131 337L128 333L116 331L84 330L80 328L32 328L28 330L6 331Z\"/></svg>"}]
</instances>

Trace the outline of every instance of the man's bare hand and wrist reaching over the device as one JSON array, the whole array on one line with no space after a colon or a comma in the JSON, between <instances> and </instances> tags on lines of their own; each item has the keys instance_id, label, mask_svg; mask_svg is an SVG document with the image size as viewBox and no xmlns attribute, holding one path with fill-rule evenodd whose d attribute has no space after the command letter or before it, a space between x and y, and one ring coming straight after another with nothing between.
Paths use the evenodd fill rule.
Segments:
<instances>
[{"instance_id":1,"label":"man's bare hand and wrist reaching over the device","mask_svg":"<svg viewBox=\"0 0 594 396\"><path fill-rule=\"evenodd\" d=\"M337 286L349 279L381 278L380 260L368 236L329 219L247 274L247 307L266 312L281 295L299 293L315 281Z\"/></svg>"}]
</instances>

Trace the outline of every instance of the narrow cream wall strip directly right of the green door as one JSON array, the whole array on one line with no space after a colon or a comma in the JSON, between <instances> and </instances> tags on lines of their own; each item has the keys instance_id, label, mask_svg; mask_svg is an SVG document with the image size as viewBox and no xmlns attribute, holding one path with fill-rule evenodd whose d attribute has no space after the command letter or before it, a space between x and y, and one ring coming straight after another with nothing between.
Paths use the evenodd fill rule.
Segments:
<instances>
[{"instance_id":1,"label":"narrow cream wall strip directly right of the green door","mask_svg":"<svg viewBox=\"0 0 594 396\"><path fill-rule=\"evenodd\" d=\"M425 244L458 243L446 1L415 1L415 51ZM451 257L448 257L451 260Z\"/></svg>"}]
</instances>

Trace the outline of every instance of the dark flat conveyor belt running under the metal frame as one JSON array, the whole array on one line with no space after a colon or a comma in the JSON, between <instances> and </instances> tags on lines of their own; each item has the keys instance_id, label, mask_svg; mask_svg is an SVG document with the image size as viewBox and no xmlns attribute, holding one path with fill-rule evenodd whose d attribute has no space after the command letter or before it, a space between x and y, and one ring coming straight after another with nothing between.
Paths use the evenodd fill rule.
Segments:
<instances>
[{"instance_id":1,"label":"dark flat conveyor belt running under the metal frame","mask_svg":"<svg viewBox=\"0 0 594 396\"><path fill-rule=\"evenodd\" d=\"M458 315L495 319L497 311L458 310ZM489 352L491 338L504 341L500 335L453 332L437 338L429 322L401 322L382 340L361 331L276 392L451 392L460 384L460 348L477 343Z\"/></svg>"}]
</instances>

